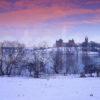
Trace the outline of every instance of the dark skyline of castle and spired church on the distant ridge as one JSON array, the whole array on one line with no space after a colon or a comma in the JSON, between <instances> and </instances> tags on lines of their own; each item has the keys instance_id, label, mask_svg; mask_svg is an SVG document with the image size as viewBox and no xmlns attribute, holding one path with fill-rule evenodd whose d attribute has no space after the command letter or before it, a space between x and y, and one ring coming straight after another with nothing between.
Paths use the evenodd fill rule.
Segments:
<instances>
[{"instance_id":1,"label":"dark skyline of castle and spired church on the distant ridge","mask_svg":"<svg viewBox=\"0 0 100 100\"><path fill-rule=\"evenodd\" d=\"M85 37L84 42L75 43L74 39L69 40L68 42L63 42L62 39L56 41L56 47L82 47L84 50L100 52L100 43L95 41L89 41L88 37Z\"/></svg>"}]
</instances>

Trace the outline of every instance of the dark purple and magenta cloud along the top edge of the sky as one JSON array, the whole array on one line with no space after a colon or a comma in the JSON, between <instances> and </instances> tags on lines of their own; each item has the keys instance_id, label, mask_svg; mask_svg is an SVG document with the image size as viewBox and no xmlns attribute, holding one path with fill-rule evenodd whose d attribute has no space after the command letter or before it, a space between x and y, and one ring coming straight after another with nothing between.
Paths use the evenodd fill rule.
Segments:
<instances>
[{"instance_id":1,"label":"dark purple and magenta cloud along the top edge of the sky","mask_svg":"<svg viewBox=\"0 0 100 100\"><path fill-rule=\"evenodd\" d=\"M100 8L100 0L0 0L0 12L12 12L34 7Z\"/></svg>"}]
</instances>

